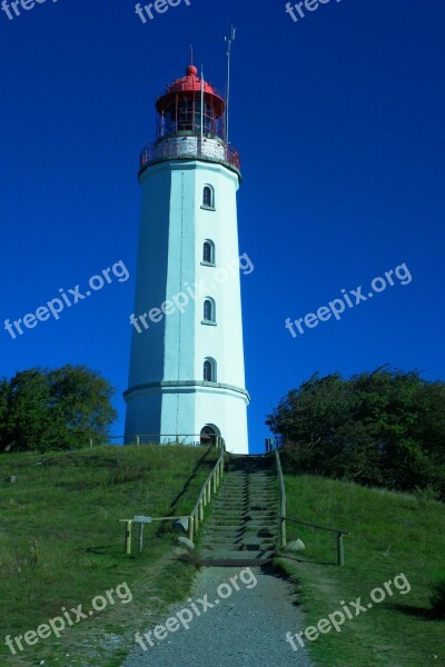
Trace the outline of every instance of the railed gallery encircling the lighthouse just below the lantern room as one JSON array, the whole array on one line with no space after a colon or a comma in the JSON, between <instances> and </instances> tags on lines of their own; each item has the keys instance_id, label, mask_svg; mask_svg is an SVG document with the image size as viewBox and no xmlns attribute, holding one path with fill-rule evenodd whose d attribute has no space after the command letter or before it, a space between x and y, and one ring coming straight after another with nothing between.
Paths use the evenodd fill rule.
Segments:
<instances>
[{"instance_id":1,"label":"railed gallery encircling the lighthouse just below the lantern room","mask_svg":"<svg viewBox=\"0 0 445 667\"><path fill-rule=\"evenodd\" d=\"M195 136L171 137L161 141L154 141L146 146L140 153L140 168L145 169L150 162L161 160L205 158L217 162L225 162L241 168L239 153L228 143L216 139L202 140Z\"/></svg>"}]
</instances>

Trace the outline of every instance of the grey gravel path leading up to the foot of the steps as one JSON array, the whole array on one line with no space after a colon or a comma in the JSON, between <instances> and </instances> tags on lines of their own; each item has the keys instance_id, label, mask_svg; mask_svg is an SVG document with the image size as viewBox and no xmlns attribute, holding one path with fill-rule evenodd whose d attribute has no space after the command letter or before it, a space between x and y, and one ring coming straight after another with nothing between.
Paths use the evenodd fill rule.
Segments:
<instances>
[{"instance_id":1,"label":"grey gravel path leading up to the foot of the steps","mask_svg":"<svg viewBox=\"0 0 445 667\"><path fill-rule=\"evenodd\" d=\"M230 578L240 573L244 575L236 580L239 586L236 590ZM226 599L222 597L229 588L222 586L219 589L221 584L228 584L233 589ZM197 600L206 594L209 603L218 600L218 604L204 613L204 604ZM171 617L181 609L189 609L194 617L190 627L186 630L180 626L175 633L168 631L160 641L151 635L152 647L144 639L144 633L154 628L141 627L140 636L147 650L136 644L137 648L122 667L310 667L313 663L306 649L298 647L294 651L285 639L287 631L294 634L306 625L303 613L293 605L295 599L288 583L259 568L250 568L250 574L243 567L205 568L198 574L191 594L200 616L187 601L170 609ZM171 628L176 625L178 623L172 623Z\"/></svg>"}]
</instances>

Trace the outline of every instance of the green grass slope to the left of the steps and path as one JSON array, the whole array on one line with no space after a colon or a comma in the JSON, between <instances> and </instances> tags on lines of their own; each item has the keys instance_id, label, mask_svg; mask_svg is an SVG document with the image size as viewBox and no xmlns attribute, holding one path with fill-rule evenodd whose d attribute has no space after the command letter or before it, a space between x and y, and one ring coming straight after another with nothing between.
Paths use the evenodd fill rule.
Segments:
<instances>
[{"instance_id":1,"label":"green grass slope to the left of the steps and path","mask_svg":"<svg viewBox=\"0 0 445 667\"><path fill-rule=\"evenodd\" d=\"M195 569L178 558L177 534L160 524L146 527L141 555L126 557L118 520L188 515L218 454L106 446L0 457L0 636L36 630L62 607L89 610L93 597L123 581L132 594L131 603L115 596L115 605L68 627L59 640L24 645L16 657L1 639L0 664L120 665L134 634L187 597ZM6 481L10 475L14 484Z\"/></svg>"}]
</instances>

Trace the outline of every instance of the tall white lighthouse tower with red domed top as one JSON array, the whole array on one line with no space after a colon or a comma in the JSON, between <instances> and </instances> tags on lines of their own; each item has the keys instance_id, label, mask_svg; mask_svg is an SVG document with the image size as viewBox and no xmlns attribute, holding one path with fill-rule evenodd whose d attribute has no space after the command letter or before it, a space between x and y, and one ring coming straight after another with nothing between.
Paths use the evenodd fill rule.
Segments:
<instances>
[{"instance_id":1,"label":"tall white lighthouse tower with red domed top","mask_svg":"<svg viewBox=\"0 0 445 667\"><path fill-rule=\"evenodd\" d=\"M248 452L236 193L225 101L189 66L141 153L126 441L222 437Z\"/></svg>"}]
</instances>

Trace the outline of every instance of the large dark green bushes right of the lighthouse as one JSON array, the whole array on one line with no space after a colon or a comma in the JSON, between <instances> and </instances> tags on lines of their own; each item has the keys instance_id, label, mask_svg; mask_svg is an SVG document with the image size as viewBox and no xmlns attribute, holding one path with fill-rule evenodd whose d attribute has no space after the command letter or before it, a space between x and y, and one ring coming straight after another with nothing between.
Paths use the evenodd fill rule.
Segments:
<instances>
[{"instance_id":1,"label":"large dark green bushes right of the lighthouse","mask_svg":"<svg viewBox=\"0 0 445 667\"><path fill-rule=\"evenodd\" d=\"M315 374L268 416L295 468L445 499L445 384L387 367Z\"/></svg>"}]
</instances>

